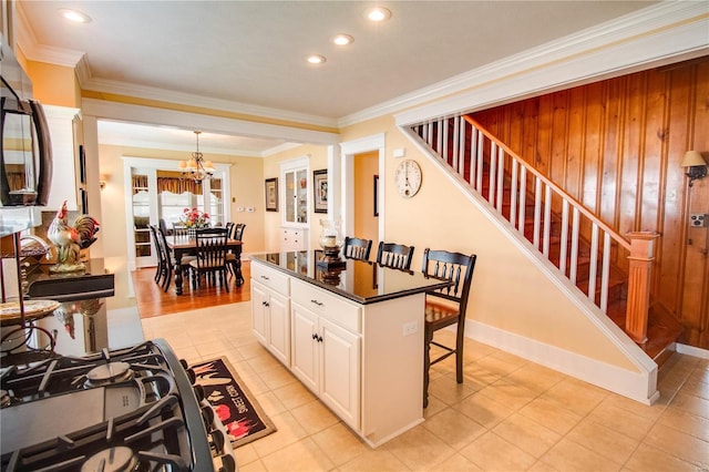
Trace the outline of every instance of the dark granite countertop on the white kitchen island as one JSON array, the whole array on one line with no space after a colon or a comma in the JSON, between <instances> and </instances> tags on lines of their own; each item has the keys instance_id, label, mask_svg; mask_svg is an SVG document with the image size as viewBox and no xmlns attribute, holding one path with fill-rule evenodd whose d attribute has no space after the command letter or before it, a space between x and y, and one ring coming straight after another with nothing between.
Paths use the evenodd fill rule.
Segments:
<instances>
[{"instance_id":1,"label":"dark granite countertop on the white kitchen island","mask_svg":"<svg viewBox=\"0 0 709 472\"><path fill-rule=\"evenodd\" d=\"M356 259L343 259L341 270L323 270L317 266L321 250L251 255L291 277L316 285L361 305L390 300L451 285L448 280L424 277L420 271L398 270Z\"/></svg>"}]
</instances>

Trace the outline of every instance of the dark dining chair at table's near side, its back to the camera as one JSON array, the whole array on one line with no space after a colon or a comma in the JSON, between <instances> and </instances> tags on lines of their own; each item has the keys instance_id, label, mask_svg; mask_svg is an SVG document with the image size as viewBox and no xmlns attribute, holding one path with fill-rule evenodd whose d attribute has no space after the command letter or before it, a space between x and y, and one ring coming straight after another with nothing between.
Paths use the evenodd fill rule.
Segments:
<instances>
[{"instance_id":1,"label":"dark dining chair at table's near side, its back to the camera","mask_svg":"<svg viewBox=\"0 0 709 472\"><path fill-rule=\"evenodd\" d=\"M219 284L229 291L226 283L226 228L202 228L196 230L195 260L189 263L189 273L192 278L192 288L199 287L202 277L209 281L216 281L218 276Z\"/></svg>"}]
</instances>

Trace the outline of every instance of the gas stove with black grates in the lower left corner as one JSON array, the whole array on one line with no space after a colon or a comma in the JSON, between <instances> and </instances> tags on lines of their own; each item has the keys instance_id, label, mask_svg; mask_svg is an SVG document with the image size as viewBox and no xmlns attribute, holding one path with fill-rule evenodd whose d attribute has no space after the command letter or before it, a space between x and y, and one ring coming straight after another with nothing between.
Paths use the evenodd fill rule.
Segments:
<instances>
[{"instance_id":1,"label":"gas stove with black grates in the lower left corner","mask_svg":"<svg viewBox=\"0 0 709 472\"><path fill-rule=\"evenodd\" d=\"M9 367L0 377L1 470L235 471L194 380L162 339Z\"/></svg>"}]
</instances>

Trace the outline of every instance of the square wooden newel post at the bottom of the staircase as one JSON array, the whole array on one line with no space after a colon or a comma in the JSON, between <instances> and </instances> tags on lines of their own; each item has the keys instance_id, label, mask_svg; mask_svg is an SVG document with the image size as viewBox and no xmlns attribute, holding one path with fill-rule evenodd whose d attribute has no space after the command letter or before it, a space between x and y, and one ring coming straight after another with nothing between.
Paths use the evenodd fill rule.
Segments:
<instances>
[{"instance_id":1,"label":"square wooden newel post at the bottom of the staircase","mask_svg":"<svg viewBox=\"0 0 709 472\"><path fill-rule=\"evenodd\" d=\"M647 318L650 309L650 273L655 260L655 239L658 233L631 232L628 256L628 306L625 331L635 342L647 341Z\"/></svg>"}]
</instances>

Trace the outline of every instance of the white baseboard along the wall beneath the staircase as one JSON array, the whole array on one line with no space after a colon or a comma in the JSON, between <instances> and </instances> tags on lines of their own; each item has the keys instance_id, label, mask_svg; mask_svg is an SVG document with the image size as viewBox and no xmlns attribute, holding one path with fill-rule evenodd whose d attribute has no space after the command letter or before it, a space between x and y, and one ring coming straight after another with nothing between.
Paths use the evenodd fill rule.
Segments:
<instances>
[{"instance_id":1,"label":"white baseboard along the wall beneath the staircase","mask_svg":"<svg viewBox=\"0 0 709 472\"><path fill-rule=\"evenodd\" d=\"M657 367L631 371L467 319L465 336L644 404L659 399Z\"/></svg>"}]
</instances>

